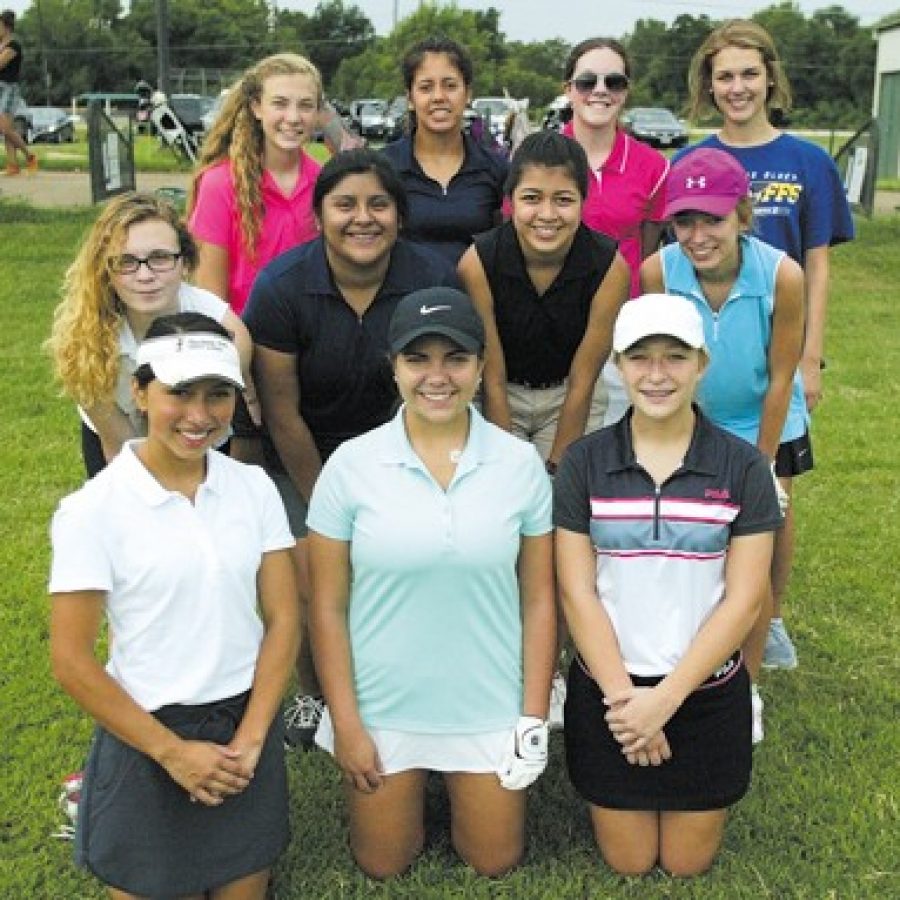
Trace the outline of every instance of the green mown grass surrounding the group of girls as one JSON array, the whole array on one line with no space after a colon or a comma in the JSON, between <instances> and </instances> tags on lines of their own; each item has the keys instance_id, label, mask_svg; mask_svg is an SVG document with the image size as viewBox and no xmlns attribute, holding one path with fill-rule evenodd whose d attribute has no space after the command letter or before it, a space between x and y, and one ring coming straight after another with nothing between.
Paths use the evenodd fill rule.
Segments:
<instances>
[{"instance_id":1,"label":"green mown grass surrounding the group of girls","mask_svg":"<svg viewBox=\"0 0 900 900\"><path fill-rule=\"evenodd\" d=\"M47 524L82 481L77 416L57 396L40 345L62 272L90 212L0 203L0 897L103 892L51 837L60 780L91 726L57 689L47 659ZM454 857L436 793L430 841L406 876L378 885L346 846L336 770L322 753L289 759L293 841L279 898L891 898L898 864L900 546L900 217L860 221L833 254L825 400L816 470L799 480L799 554L787 605L801 667L764 676L766 740L720 860L680 883L620 879L592 849L561 741L532 789L526 864L497 881Z\"/></svg>"}]
</instances>

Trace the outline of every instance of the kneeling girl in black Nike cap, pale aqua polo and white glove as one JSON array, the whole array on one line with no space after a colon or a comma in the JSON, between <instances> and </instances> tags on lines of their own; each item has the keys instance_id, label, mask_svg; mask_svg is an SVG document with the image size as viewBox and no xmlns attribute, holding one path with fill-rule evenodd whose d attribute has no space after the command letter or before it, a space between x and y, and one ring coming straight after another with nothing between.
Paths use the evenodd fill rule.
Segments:
<instances>
[{"instance_id":1,"label":"kneeling girl in black Nike cap, pale aqua polo and white glove","mask_svg":"<svg viewBox=\"0 0 900 900\"><path fill-rule=\"evenodd\" d=\"M309 510L316 741L344 775L350 849L370 877L425 842L429 772L482 875L525 850L525 791L547 764L555 641L550 481L533 447L471 405L484 329L452 288L397 305L403 405L342 444Z\"/></svg>"}]
</instances>

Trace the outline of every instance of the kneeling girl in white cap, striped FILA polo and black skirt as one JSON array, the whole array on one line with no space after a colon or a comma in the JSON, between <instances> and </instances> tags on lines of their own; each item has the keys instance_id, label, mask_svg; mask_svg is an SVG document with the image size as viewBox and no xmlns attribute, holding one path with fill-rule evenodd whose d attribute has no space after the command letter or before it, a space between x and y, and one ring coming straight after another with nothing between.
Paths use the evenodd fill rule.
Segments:
<instances>
[{"instance_id":1,"label":"kneeling girl in white cap, striped FILA polo and black skirt","mask_svg":"<svg viewBox=\"0 0 900 900\"><path fill-rule=\"evenodd\" d=\"M708 357L688 301L626 303L613 350L631 409L572 444L554 482L557 578L578 650L566 759L613 869L694 875L750 781L739 648L781 514L765 457L692 403Z\"/></svg>"}]
</instances>

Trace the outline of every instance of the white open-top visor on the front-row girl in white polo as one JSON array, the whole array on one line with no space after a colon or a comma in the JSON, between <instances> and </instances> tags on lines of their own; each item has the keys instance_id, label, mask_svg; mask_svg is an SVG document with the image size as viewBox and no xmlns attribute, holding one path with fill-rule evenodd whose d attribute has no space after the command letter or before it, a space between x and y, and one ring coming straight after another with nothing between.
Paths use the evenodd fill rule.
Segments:
<instances>
[{"instance_id":1,"label":"white open-top visor on the front-row girl in white polo","mask_svg":"<svg viewBox=\"0 0 900 900\"><path fill-rule=\"evenodd\" d=\"M149 338L138 347L137 364L149 365L170 387L201 378L221 378L244 387L237 347L218 334L191 332Z\"/></svg>"}]
</instances>

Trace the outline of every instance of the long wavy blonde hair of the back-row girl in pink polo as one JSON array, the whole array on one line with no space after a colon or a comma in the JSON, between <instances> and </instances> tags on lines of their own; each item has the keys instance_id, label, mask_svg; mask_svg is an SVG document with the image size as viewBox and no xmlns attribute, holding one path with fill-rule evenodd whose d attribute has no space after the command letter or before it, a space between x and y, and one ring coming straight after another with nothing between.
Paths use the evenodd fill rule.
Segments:
<instances>
[{"instance_id":1,"label":"long wavy blonde hair of the back-row girl in pink polo","mask_svg":"<svg viewBox=\"0 0 900 900\"><path fill-rule=\"evenodd\" d=\"M307 75L315 84L316 105L322 106L322 76L306 57L296 53L277 53L247 69L229 89L212 130L204 138L188 201L190 214L197 203L197 191L203 174L222 160L230 160L241 238L250 259L256 256L263 216L265 144L262 126L253 115L253 104L261 100L266 80L277 75Z\"/></svg>"}]
</instances>

